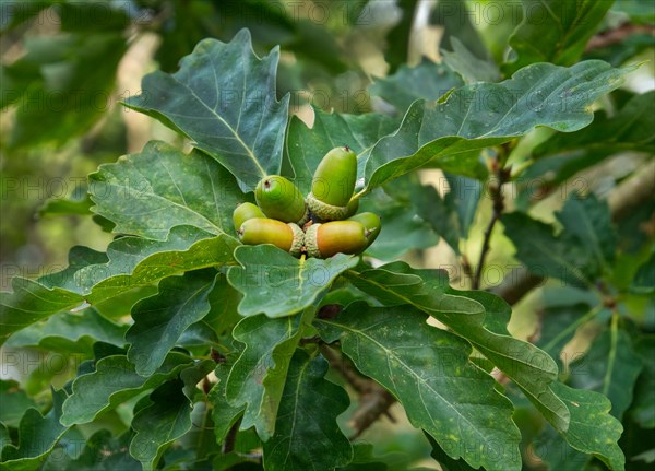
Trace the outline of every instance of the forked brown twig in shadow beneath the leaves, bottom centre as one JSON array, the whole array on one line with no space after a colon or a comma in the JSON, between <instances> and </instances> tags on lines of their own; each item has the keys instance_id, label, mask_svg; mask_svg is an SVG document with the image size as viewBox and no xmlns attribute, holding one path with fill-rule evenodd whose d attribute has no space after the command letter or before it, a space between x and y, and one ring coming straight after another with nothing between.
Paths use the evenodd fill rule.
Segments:
<instances>
[{"instance_id":1,"label":"forked brown twig in shadow beneath the leaves, bottom centre","mask_svg":"<svg viewBox=\"0 0 655 471\"><path fill-rule=\"evenodd\" d=\"M395 398L382 386L370 378L361 376L355 366L342 356L336 350L329 345L321 345L321 353L330 362L330 366L341 373L341 375L359 393L359 404L349 425L354 433L350 439L357 438L368 427L370 427L381 415L386 415L390 421L395 419L389 412L389 408L395 402Z\"/></svg>"}]
</instances>

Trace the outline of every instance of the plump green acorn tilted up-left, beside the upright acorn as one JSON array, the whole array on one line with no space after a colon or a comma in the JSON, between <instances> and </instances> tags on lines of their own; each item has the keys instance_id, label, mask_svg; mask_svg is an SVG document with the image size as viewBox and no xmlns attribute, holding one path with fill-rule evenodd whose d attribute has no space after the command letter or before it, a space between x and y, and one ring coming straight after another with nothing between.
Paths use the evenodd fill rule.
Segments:
<instances>
[{"instance_id":1,"label":"plump green acorn tilted up-left, beside the upright acorn","mask_svg":"<svg viewBox=\"0 0 655 471\"><path fill-rule=\"evenodd\" d=\"M267 217L298 225L309 221L302 193L285 177L269 175L262 178L254 189L254 199Z\"/></svg>"}]
</instances>

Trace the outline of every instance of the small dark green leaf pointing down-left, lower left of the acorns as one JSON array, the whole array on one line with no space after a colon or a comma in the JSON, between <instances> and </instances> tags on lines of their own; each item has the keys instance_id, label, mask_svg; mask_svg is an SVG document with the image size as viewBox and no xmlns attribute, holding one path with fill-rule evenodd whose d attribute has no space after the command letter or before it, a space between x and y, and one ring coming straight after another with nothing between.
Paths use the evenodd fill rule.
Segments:
<instances>
[{"instance_id":1,"label":"small dark green leaf pointing down-left, lower left of the acorns","mask_svg":"<svg viewBox=\"0 0 655 471\"><path fill-rule=\"evenodd\" d=\"M139 375L155 373L184 331L209 313L215 279L214 270L165 278L155 296L132 307L134 323L126 333L126 341L130 343L128 358Z\"/></svg>"}]
</instances>

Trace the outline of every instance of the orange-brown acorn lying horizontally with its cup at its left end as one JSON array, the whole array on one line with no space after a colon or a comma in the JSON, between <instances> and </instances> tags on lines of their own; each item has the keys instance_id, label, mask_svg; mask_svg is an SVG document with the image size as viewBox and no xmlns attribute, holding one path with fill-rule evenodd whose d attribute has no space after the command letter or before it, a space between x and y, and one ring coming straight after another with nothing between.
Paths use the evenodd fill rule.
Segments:
<instances>
[{"instance_id":1,"label":"orange-brown acorn lying horizontally with its cup at its left end","mask_svg":"<svg viewBox=\"0 0 655 471\"><path fill-rule=\"evenodd\" d=\"M309 257L329 258L335 254L359 254L369 245L367 229L357 221L312 224L305 233Z\"/></svg>"}]
</instances>

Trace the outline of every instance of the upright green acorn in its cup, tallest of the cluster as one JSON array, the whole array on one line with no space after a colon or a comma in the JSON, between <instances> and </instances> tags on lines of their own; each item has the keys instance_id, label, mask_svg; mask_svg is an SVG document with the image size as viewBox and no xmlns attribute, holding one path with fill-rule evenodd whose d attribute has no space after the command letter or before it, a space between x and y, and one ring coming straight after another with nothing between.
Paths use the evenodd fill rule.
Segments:
<instances>
[{"instance_id":1,"label":"upright green acorn in its cup, tallest of the cluster","mask_svg":"<svg viewBox=\"0 0 655 471\"><path fill-rule=\"evenodd\" d=\"M314 172L311 192L307 196L310 211L323 221L343 220L357 179L357 156L347 145L325 154Z\"/></svg>"}]
</instances>

